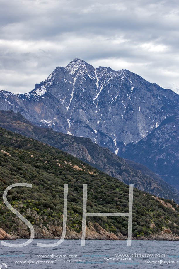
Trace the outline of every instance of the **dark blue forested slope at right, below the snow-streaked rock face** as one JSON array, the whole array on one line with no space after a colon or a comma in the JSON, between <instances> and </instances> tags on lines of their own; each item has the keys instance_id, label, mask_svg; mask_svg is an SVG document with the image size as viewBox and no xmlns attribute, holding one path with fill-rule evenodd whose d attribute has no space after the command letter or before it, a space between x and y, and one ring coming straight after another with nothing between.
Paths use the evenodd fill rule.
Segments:
<instances>
[{"instance_id":1,"label":"dark blue forested slope at right, below the snow-streaked rock face","mask_svg":"<svg viewBox=\"0 0 179 269\"><path fill-rule=\"evenodd\" d=\"M121 156L146 165L179 189L179 116L168 116L147 137L129 143Z\"/></svg>"}]
</instances>

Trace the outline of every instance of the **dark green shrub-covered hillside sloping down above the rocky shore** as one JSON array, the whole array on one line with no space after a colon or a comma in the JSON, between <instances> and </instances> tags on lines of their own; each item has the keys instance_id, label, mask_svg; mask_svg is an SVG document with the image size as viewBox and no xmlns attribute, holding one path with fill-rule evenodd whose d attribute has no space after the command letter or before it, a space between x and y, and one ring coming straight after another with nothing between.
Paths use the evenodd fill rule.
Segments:
<instances>
[{"instance_id":1,"label":"dark green shrub-covered hillside sloping down above the rocky shore","mask_svg":"<svg viewBox=\"0 0 179 269\"><path fill-rule=\"evenodd\" d=\"M29 209L37 212L39 221L27 217L35 227L42 223L46 227L62 226L65 183L69 184L67 226L76 232L81 231L84 183L88 184L87 212L128 212L129 186L72 155L4 128L0 128L0 145L0 227L7 232L16 231L20 224L4 205L2 196L7 186L17 182L31 183L33 189L13 188L8 192L8 201L24 216ZM163 201L176 210L134 188L132 236L148 236L164 226L179 235L178 207L175 202ZM115 234L127 235L127 217L87 217L87 224L88 221L98 222ZM151 222L155 228L150 228Z\"/></svg>"}]
</instances>

